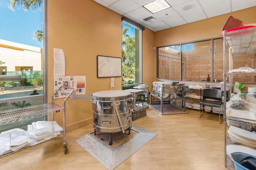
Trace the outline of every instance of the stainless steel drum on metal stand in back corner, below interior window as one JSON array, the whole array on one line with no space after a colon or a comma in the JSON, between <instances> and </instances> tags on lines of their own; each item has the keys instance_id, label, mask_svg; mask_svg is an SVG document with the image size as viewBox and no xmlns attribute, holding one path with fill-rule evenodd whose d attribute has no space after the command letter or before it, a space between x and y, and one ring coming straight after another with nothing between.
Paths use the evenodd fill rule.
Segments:
<instances>
[{"instance_id":1,"label":"stainless steel drum on metal stand in back corner, below interior window","mask_svg":"<svg viewBox=\"0 0 256 170\"><path fill-rule=\"evenodd\" d=\"M160 98L178 98L183 97L183 86L181 83L156 83L156 94Z\"/></svg>"}]
</instances>

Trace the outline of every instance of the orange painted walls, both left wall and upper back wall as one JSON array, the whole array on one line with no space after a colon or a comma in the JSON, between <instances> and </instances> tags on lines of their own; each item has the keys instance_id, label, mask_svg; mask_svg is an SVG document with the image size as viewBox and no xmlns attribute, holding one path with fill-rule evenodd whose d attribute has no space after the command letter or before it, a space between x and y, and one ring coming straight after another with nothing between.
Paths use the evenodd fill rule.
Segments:
<instances>
[{"instance_id":1,"label":"orange painted walls, both left wall and upper back wall","mask_svg":"<svg viewBox=\"0 0 256 170\"><path fill-rule=\"evenodd\" d=\"M220 37L222 25L229 15L245 23L256 23L256 7L209 18L162 31L153 32L147 28L142 33L142 83L152 90L156 81L156 50L154 46L170 45L200 39ZM66 75L86 75L86 94L103 90L121 90L121 78L97 78L96 56L121 57L120 14L93 2L92 0L50 0L48 1L48 101L54 92L53 48L63 49ZM154 69L153 69L154 68ZM54 100L63 105L63 99ZM63 125L61 113L54 119ZM90 99L66 102L67 131L92 124Z\"/></svg>"}]
</instances>

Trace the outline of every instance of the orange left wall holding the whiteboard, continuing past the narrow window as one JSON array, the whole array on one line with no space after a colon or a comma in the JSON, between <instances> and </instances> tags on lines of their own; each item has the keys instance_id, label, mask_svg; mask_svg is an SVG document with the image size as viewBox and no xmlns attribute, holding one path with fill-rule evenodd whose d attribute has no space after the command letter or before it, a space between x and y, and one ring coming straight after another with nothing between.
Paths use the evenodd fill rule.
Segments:
<instances>
[{"instance_id":1,"label":"orange left wall holding the whiteboard, continuing past the narrow window","mask_svg":"<svg viewBox=\"0 0 256 170\"><path fill-rule=\"evenodd\" d=\"M121 90L122 79L97 78L97 55L121 57L122 23L120 14L92 0L49 0L48 1L48 101L54 92L53 48L63 49L66 75L86 75L86 94L104 90ZM154 59L154 32L145 29L142 37L143 84L152 84ZM54 102L63 105L63 99ZM62 125L62 114L54 114ZM67 131L92 124L90 99L66 102Z\"/></svg>"}]
</instances>

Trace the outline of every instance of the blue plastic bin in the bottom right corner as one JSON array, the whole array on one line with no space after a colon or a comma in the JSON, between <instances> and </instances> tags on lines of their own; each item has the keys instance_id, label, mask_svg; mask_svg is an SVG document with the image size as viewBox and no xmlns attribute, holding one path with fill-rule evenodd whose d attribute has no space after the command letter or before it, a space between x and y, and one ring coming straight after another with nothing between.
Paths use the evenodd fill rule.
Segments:
<instances>
[{"instance_id":1,"label":"blue plastic bin in the bottom right corner","mask_svg":"<svg viewBox=\"0 0 256 170\"><path fill-rule=\"evenodd\" d=\"M252 158L256 158L256 156L246 154L243 152L231 153L231 160L234 162L234 166L235 166L236 170L249 170L248 168L241 165L241 160L243 160L244 158L246 158L248 156L250 156Z\"/></svg>"}]
</instances>

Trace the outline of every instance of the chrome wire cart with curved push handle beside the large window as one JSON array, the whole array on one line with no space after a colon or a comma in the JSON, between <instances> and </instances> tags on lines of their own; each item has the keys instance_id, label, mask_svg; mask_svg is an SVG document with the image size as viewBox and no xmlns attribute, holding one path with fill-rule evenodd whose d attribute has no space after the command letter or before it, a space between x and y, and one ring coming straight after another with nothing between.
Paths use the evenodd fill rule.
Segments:
<instances>
[{"instance_id":1,"label":"chrome wire cart with curved push handle beside the large window","mask_svg":"<svg viewBox=\"0 0 256 170\"><path fill-rule=\"evenodd\" d=\"M55 94L58 93L59 90L62 88L68 88L71 91L68 94L68 96L66 96L66 98L64 99L63 106L59 106L59 105L53 103L53 99L54 99ZM58 113L60 111L63 111L63 133L61 136L64 136L63 147L64 147L64 154L66 154L68 151L67 150L68 143L66 142L66 100L72 95L73 92L74 92L74 88L61 86L52 95L52 103L0 111L0 125L12 123L15 121L22 121L24 119L28 119L28 118L32 118L32 117L44 116L44 115L48 115L48 114L52 114L52 121L53 121L53 113ZM5 156L5 155L3 155L3 156Z\"/></svg>"}]
</instances>

